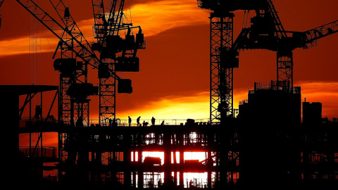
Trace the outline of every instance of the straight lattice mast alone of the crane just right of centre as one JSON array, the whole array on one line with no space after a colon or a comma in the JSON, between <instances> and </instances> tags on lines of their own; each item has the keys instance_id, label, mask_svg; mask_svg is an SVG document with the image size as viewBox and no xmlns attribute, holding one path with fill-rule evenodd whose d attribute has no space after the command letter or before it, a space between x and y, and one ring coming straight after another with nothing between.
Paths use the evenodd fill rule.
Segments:
<instances>
[{"instance_id":1,"label":"straight lattice mast alone of the crane just right of centre","mask_svg":"<svg viewBox=\"0 0 338 190\"><path fill-rule=\"evenodd\" d=\"M211 13L210 49L210 120L233 117L233 68L238 67L236 52L232 51L233 13Z\"/></svg>"}]
</instances>

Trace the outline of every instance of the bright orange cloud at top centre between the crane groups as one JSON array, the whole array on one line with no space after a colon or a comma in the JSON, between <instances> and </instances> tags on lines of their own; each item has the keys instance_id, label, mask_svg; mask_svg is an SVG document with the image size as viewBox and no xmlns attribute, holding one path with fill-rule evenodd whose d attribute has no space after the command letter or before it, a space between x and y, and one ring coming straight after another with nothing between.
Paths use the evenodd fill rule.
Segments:
<instances>
[{"instance_id":1,"label":"bright orange cloud at top centre between the crane groups","mask_svg":"<svg viewBox=\"0 0 338 190\"><path fill-rule=\"evenodd\" d=\"M196 1L151 1L132 7L132 22L140 25L146 36L156 35L174 27L208 23L209 13Z\"/></svg>"}]
</instances>

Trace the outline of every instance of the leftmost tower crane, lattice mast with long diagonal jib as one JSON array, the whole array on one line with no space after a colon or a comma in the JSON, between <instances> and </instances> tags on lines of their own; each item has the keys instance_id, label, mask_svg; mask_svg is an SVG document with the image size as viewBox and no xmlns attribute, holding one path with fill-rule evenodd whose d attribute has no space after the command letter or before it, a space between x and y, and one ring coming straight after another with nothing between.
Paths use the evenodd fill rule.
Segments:
<instances>
[{"instance_id":1,"label":"leftmost tower crane, lattice mast with long diagonal jib","mask_svg":"<svg viewBox=\"0 0 338 190\"><path fill-rule=\"evenodd\" d=\"M86 99L89 95L94 95L91 91L91 85L87 83L87 65L92 65L92 67L97 68L99 60L89 49L89 43L84 39L82 32L73 21L73 18L71 18L69 10L65 11L66 8L62 1L50 2L54 5L56 11L58 11L58 15L63 20L63 24L51 18L51 16L41 7L37 6L34 1L17 0L17 2L59 39L56 51L61 49L61 58L54 61L54 69L61 72L61 106L59 109L59 120L65 125L74 125L76 120L82 117L82 119L84 119L84 125L88 125L89 114L86 113L82 115L80 113L74 113L74 110L76 111L75 108L79 106L75 101ZM60 13L61 7L63 8L62 14ZM54 53L54 57L55 55L56 52ZM82 62L77 61L77 58L82 59ZM81 86L89 86L89 91L85 91L83 94L85 97L76 94L76 91L73 90L79 87L82 88Z\"/></svg>"}]
</instances>

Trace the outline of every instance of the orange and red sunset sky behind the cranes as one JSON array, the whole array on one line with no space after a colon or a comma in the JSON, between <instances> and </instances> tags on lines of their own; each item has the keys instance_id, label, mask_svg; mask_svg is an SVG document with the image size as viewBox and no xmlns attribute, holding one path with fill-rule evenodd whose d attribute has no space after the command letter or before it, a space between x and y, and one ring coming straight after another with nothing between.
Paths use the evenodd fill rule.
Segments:
<instances>
[{"instance_id":1,"label":"orange and red sunset sky behind the cranes","mask_svg":"<svg viewBox=\"0 0 338 190\"><path fill-rule=\"evenodd\" d=\"M92 1L64 2L87 41L93 42ZM130 115L136 119L141 115L142 120L152 116L158 120L207 119L210 11L199 8L196 0L125 2L132 13L133 25L142 27L146 49L138 51L140 72L121 74L132 80L133 93L117 95L117 118L127 119ZM311 30L338 20L336 0L273 2L285 30ZM47 3L37 0L42 7ZM46 6L45 11L54 10ZM52 59L58 39L14 0L4 1L0 13L0 84L58 85L59 73L54 70ZM234 13L234 37L237 37L244 11ZM294 85L301 87L302 101L306 98L309 102L323 103L323 117L330 119L338 118L337 53L338 34L320 39L318 46L311 49L294 51ZM91 72L97 75L96 71ZM89 78L89 82L98 85L95 77ZM240 51L239 68L234 69L234 108L247 99L253 82L270 80L276 80L275 52ZM98 98L91 97L91 119L98 115Z\"/></svg>"}]
</instances>

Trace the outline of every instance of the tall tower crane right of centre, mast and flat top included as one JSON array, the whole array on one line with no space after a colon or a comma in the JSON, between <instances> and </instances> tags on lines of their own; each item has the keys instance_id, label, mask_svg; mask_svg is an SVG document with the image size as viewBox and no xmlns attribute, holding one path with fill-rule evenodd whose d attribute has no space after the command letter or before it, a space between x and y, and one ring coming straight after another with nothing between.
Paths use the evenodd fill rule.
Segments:
<instances>
[{"instance_id":1,"label":"tall tower crane right of centre, mast and flat top included","mask_svg":"<svg viewBox=\"0 0 338 190\"><path fill-rule=\"evenodd\" d=\"M197 0L200 8L213 11L210 18L210 122L234 117L233 69L239 67L238 51L233 51L233 11L261 10L266 1Z\"/></svg>"}]
</instances>

